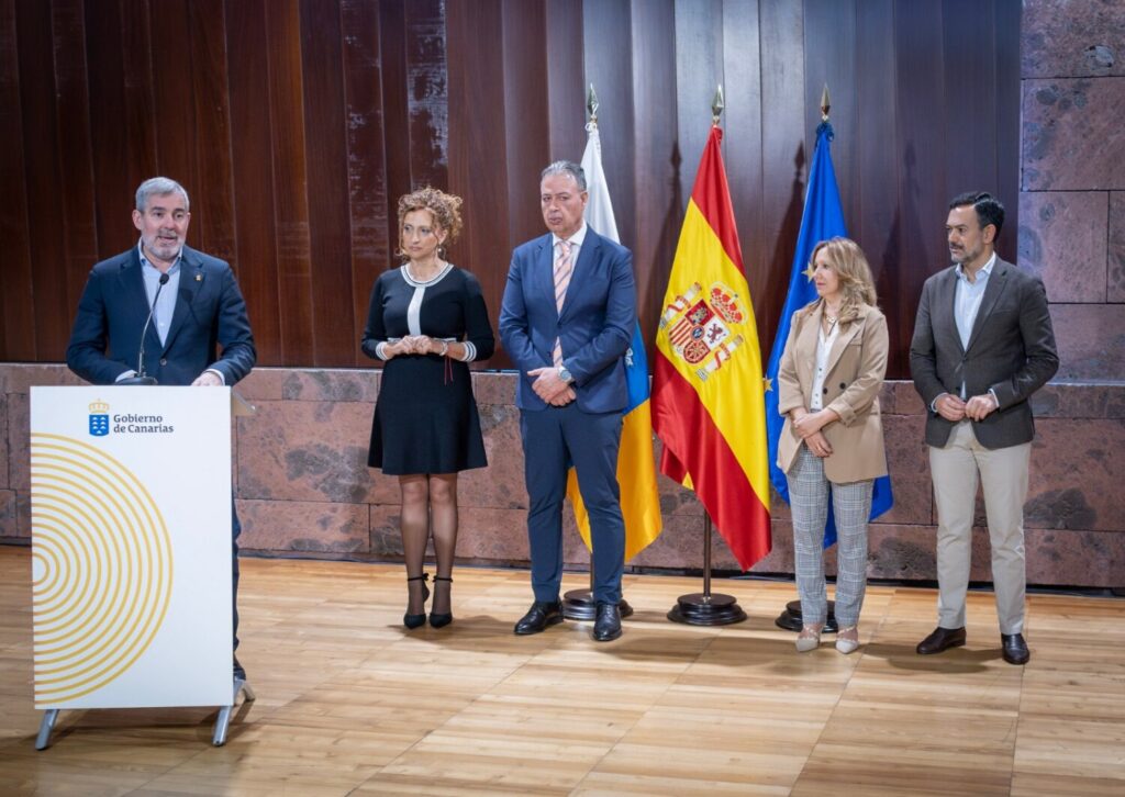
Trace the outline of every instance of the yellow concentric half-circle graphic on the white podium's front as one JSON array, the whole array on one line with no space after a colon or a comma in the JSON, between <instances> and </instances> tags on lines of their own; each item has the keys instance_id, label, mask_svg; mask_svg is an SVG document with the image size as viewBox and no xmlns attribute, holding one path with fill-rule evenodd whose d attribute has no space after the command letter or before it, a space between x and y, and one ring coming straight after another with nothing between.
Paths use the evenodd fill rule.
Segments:
<instances>
[{"instance_id":1,"label":"yellow concentric half-circle graphic on the white podium's front","mask_svg":"<svg viewBox=\"0 0 1125 797\"><path fill-rule=\"evenodd\" d=\"M32 434L35 700L101 689L152 644L172 596L172 545L144 483L88 443Z\"/></svg>"}]
</instances>

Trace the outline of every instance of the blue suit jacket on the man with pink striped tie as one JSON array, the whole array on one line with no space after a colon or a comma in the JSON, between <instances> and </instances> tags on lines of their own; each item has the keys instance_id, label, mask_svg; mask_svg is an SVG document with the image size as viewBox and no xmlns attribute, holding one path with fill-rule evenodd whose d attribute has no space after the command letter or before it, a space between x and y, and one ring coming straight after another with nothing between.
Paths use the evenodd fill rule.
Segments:
<instances>
[{"instance_id":1,"label":"blue suit jacket on the man with pink striped tie","mask_svg":"<svg viewBox=\"0 0 1125 797\"><path fill-rule=\"evenodd\" d=\"M559 338L578 408L622 410L629 399L624 353L637 324L632 253L587 227L561 313L555 306L554 261L549 233L512 253L500 336L520 369L516 406L547 408L532 390L534 380L528 371L552 364L551 351Z\"/></svg>"}]
</instances>

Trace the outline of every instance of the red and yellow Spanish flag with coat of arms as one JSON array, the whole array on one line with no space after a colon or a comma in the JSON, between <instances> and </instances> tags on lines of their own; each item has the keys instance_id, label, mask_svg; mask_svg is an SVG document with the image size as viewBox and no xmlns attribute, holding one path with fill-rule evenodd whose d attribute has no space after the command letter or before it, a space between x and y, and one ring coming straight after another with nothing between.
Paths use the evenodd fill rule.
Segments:
<instances>
[{"instance_id":1,"label":"red and yellow Spanish flag with coat of arms","mask_svg":"<svg viewBox=\"0 0 1125 797\"><path fill-rule=\"evenodd\" d=\"M719 143L711 128L656 333L660 472L695 491L744 570L770 553L762 351Z\"/></svg>"}]
</instances>

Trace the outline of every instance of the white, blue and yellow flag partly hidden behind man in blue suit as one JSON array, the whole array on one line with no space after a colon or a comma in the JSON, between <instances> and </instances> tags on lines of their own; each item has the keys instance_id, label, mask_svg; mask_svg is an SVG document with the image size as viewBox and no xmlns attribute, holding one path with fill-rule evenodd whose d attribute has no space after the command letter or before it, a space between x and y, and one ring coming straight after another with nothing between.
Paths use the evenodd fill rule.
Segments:
<instances>
[{"instance_id":1,"label":"white, blue and yellow flag partly hidden behind man in blue suit","mask_svg":"<svg viewBox=\"0 0 1125 797\"><path fill-rule=\"evenodd\" d=\"M586 173L586 223L598 234L613 242L618 238L618 223L610 202L610 190L602 169L602 141L597 125L586 126L586 152L582 170ZM626 382L629 404L621 424L621 447L618 451L618 483L621 486L621 516L626 523L626 560L630 560L660 535L660 497L656 490L656 465L652 462L652 420L648 396L648 359L640 325L633 329L633 339L626 353ZM586 547L590 547L590 515L578 491L578 477L574 468L567 473L566 492L574 506Z\"/></svg>"}]
</instances>

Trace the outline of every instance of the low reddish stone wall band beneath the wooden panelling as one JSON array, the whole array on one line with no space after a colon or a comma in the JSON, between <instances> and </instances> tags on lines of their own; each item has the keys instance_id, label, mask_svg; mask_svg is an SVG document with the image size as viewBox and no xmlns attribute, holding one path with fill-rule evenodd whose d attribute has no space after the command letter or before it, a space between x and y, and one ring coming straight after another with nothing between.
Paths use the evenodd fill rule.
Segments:
<instances>
[{"instance_id":1,"label":"low reddish stone wall band beneath the wooden panelling","mask_svg":"<svg viewBox=\"0 0 1125 797\"><path fill-rule=\"evenodd\" d=\"M526 493L514 375L474 375L488 468L459 484L464 562L525 565ZM0 542L30 534L28 387L78 384L61 365L0 365ZM266 556L396 561L398 484L367 468L378 373L258 369L238 386L258 414L233 429L234 483L243 550ZM909 382L881 398L896 504L871 526L872 578L933 580L934 502L922 443L921 401ZM1051 384L1035 397L1038 435L1027 502L1028 579L1038 585L1125 586L1125 386ZM658 453L654 442L654 456ZM774 551L754 572L791 573L788 507L774 500ZM692 492L660 478L665 531L631 567L698 570L703 510ZM983 507L978 506L973 579L989 580ZM585 549L568 519L566 559ZM716 569L737 564L716 538Z\"/></svg>"}]
</instances>

